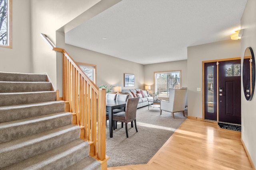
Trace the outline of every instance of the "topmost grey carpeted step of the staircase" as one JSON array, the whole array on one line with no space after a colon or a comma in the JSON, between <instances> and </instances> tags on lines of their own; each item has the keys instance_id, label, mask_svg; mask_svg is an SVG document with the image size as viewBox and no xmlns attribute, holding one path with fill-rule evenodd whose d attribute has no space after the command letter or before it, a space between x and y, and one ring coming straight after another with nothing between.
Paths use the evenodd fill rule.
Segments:
<instances>
[{"instance_id":1,"label":"topmost grey carpeted step of the staircase","mask_svg":"<svg viewBox=\"0 0 256 170\"><path fill-rule=\"evenodd\" d=\"M0 81L6 82L46 82L46 74L26 74L26 73L12 73L0 72Z\"/></svg>"}]
</instances>

